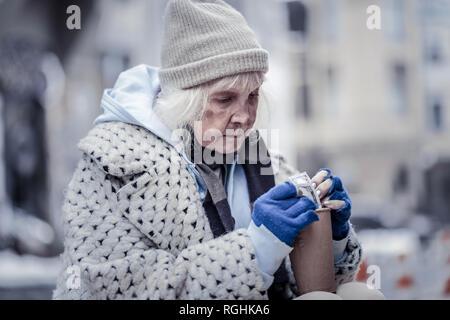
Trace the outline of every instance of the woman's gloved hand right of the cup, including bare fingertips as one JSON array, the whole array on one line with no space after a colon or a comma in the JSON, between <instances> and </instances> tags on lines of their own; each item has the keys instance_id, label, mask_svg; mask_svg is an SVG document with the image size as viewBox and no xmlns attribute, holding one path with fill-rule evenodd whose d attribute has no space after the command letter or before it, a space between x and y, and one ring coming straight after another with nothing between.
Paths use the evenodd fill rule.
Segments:
<instances>
[{"instance_id":1,"label":"woman's gloved hand right of the cup, including bare fingertips","mask_svg":"<svg viewBox=\"0 0 450 320\"><path fill-rule=\"evenodd\" d=\"M352 202L339 177L328 168L320 169L311 179L323 206L331 209L333 239L344 239L349 231Z\"/></svg>"}]
</instances>

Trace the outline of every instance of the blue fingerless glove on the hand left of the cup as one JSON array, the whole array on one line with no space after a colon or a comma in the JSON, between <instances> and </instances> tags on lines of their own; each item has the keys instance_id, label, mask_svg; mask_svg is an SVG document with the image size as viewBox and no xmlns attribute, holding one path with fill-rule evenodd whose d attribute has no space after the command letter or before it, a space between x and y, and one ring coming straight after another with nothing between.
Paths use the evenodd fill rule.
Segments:
<instances>
[{"instance_id":1,"label":"blue fingerless glove on the hand left of the cup","mask_svg":"<svg viewBox=\"0 0 450 320\"><path fill-rule=\"evenodd\" d=\"M319 220L314 210L317 205L307 197L297 198L297 189L291 182L273 187L254 204L252 219L263 224L278 239L292 247L299 232Z\"/></svg>"}]
</instances>

